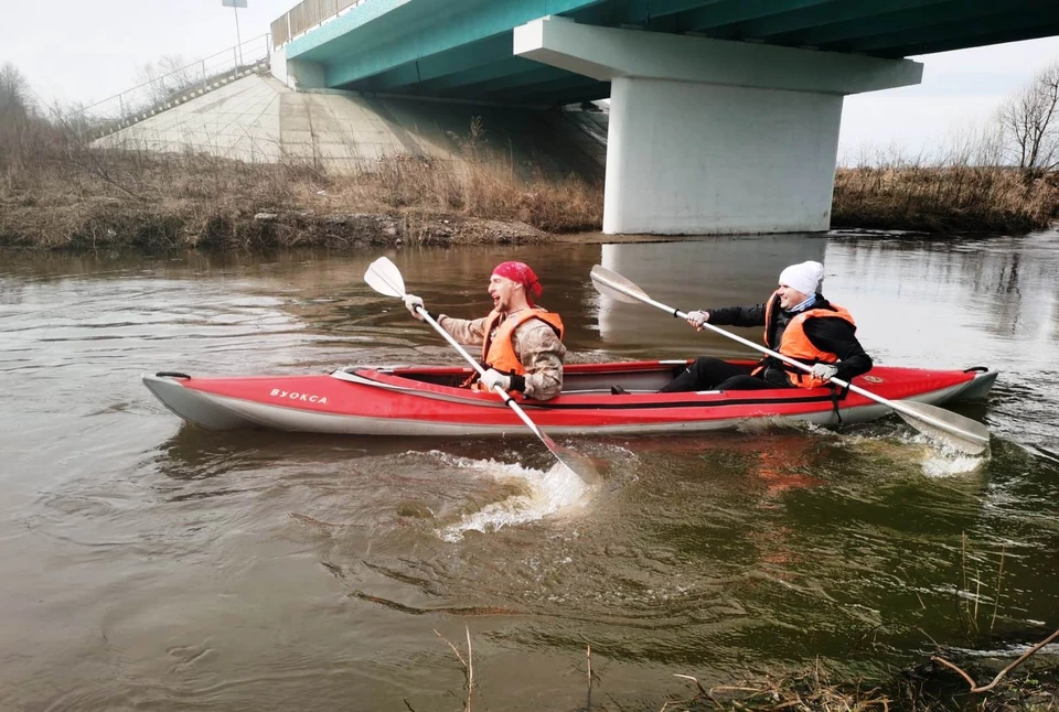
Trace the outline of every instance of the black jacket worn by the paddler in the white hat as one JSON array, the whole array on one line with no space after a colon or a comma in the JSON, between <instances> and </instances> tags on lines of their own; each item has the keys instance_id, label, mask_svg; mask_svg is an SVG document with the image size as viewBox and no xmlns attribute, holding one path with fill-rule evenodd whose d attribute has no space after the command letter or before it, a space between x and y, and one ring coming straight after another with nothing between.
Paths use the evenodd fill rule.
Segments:
<instances>
[{"instance_id":1,"label":"black jacket worn by the paddler in the white hat","mask_svg":"<svg viewBox=\"0 0 1059 712\"><path fill-rule=\"evenodd\" d=\"M770 344L779 346L780 338L783 336L783 330L791 321L790 312L780 309L780 298L773 296L775 302L772 305L772 323L768 325ZM752 304L748 306L721 306L720 309L709 309L709 323L716 326L766 326L764 304ZM812 309L832 309L828 302L820 293L816 294L816 301ZM843 319L806 319L805 336L812 342L813 346L822 352L834 354L838 357L838 367L836 376L842 380L848 381L855 376L866 374L871 369L871 357L864 353L864 347L857 341L857 327ZM782 362L767 357L767 365L785 367ZM790 368L790 367L787 367Z\"/></svg>"}]
</instances>

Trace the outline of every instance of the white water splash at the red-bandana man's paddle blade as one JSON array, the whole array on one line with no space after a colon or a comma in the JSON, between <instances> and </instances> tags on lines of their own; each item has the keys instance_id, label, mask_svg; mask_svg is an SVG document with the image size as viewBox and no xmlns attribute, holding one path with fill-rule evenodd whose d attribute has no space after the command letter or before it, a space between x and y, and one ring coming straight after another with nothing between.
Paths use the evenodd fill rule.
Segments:
<instances>
[{"instance_id":1,"label":"white water splash at the red-bandana man's paddle blade","mask_svg":"<svg viewBox=\"0 0 1059 712\"><path fill-rule=\"evenodd\" d=\"M494 460L471 460L445 453L435 453L447 464L485 472L499 481L521 479L528 485L528 494L507 497L486 505L481 510L464 515L462 519L438 529L436 533L445 541L457 542L466 531L499 531L503 527L543 519L576 504L584 504L585 495L592 487L561 463L548 471L509 465Z\"/></svg>"}]
</instances>

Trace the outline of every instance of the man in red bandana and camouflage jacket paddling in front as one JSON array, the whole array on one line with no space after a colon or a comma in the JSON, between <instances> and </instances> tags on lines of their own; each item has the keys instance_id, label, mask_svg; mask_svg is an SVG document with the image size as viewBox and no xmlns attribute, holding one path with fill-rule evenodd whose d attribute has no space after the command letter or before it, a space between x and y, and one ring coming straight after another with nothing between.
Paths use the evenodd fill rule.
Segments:
<instances>
[{"instance_id":1,"label":"man in red bandana and camouflage jacket paddling in front","mask_svg":"<svg viewBox=\"0 0 1059 712\"><path fill-rule=\"evenodd\" d=\"M452 319L441 314L438 324L452 338L482 345L481 380L470 379L467 386L492 390L500 385L507 391L521 392L534 400L555 398L563 390L563 320L533 303L544 289L537 276L524 262L501 262L489 278L489 295L493 311L475 320ZM416 306L422 300L405 296L411 315L422 320Z\"/></svg>"}]
</instances>

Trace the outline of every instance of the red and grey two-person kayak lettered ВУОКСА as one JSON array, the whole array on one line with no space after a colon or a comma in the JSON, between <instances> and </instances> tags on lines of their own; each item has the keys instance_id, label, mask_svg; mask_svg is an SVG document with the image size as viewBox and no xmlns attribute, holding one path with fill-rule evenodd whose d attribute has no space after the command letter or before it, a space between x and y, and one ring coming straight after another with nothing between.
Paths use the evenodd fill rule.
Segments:
<instances>
[{"instance_id":1,"label":"red and grey two-person kayak lettered \u0412\u0423\u041e\u041a\u0421\u0410","mask_svg":"<svg viewBox=\"0 0 1059 712\"><path fill-rule=\"evenodd\" d=\"M552 435L695 432L785 418L855 423L889 408L831 388L656 392L689 362L569 364L563 395L520 399ZM750 362L739 362L750 363ZM362 435L503 435L528 431L495 393L460 388L458 367L347 368L319 376L193 378L162 371L143 384L171 411L210 430L257 428ZM941 404L984 398L997 371L876 366L853 384L889 400ZM620 386L627 392L612 395Z\"/></svg>"}]
</instances>

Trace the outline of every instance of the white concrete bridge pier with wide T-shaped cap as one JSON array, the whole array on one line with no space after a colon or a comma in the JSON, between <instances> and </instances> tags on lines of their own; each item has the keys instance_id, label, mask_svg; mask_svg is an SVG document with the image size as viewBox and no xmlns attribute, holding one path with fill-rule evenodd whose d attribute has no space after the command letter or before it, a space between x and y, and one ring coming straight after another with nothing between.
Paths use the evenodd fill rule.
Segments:
<instances>
[{"instance_id":1,"label":"white concrete bridge pier with wide T-shaped cap","mask_svg":"<svg viewBox=\"0 0 1059 712\"><path fill-rule=\"evenodd\" d=\"M514 53L611 83L608 234L826 230L843 96L922 78L908 60L558 17L515 28Z\"/></svg>"}]
</instances>

